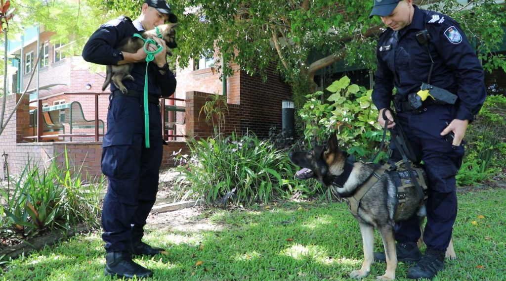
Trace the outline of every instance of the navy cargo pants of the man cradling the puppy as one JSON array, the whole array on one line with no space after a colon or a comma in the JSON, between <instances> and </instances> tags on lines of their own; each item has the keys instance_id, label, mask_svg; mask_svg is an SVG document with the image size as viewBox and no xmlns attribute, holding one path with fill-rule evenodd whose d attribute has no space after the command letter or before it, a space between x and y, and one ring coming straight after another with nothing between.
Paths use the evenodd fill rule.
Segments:
<instances>
[{"instance_id":1,"label":"navy cargo pants of the man cradling the puppy","mask_svg":"<svg viewBox=\"0 0 506 281\"><path fill-rule=\"evenodd\" d=\"M109 180L102 209L102 239L107 252L122 252L142 239L156 199L163 152L161 117L158 105L149 103L150 148L146 148L143 101L119 96L112 98L109 106L102 144L102 173Z\"/></svg>"}]
</instances>

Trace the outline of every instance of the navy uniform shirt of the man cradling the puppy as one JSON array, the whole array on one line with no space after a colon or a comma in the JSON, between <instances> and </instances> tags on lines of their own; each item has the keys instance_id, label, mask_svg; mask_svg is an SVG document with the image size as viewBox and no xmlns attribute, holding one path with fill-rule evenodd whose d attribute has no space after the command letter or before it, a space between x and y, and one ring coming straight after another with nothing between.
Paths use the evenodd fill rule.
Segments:
<instances>
[{"instance_id":1,"label":"navy uniform shirt of the man cradling the puppy","mask_svg":"<svg viewBox=\"0 0 506 281\"><path fill-rule=\"evenodd\" d=\"M139 31L143 31L140 21L132 21L130 18L121 16L111 20L95 31L86 43L82 57L92 63L102 65L117 65L123 60L123 55L118 51L117 45L122 39L131 37ZM146 62L134 63L131 75L135 81L123 80L127 89L144 92L146 75ZM117 90L111 83L111 92ZM176 91L176 77L168 70L161 74L154 61L148 66L148 92L154 96L168 97Z\"/></svg>"}]
</instances>

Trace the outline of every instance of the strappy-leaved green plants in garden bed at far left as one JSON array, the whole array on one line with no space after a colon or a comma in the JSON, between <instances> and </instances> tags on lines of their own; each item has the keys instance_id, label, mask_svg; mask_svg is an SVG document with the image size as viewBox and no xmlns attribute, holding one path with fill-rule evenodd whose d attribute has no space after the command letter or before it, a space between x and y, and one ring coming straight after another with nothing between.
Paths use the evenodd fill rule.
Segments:
<instances>
[{"instance_id":1,"label":"strappy-leaved green plants in garden bed at far left","mask_svg":"<svg viewBox=\"0 0 506 281\"><path fill-rule=\"evenodd\" d=\"M98 227L100 215L98 186L81 185L80 168L71 171L65 152L66 166L57 167L55 159L47 169L28 164L13 183L0 190L4 234L20 234L28 239L44 230L69 229L79 223Z\"/></svg>"}]
</instances>

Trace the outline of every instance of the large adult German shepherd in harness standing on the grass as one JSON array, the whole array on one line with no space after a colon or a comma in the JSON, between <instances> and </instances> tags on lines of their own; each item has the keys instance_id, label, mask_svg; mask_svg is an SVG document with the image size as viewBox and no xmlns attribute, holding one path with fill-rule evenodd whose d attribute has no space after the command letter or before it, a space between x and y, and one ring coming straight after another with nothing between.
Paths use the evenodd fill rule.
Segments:
<instances>
[{"instance_id":1,"label":"large adult German shepherd in harness standing on the grass","mask_svg":"<svg viewBox=\"0 0 506 281\"><path fill-rule=\"evenodd\" d=\"M332 186L333 191L342 198L353 196L355 191L368 180L375 170L373 164L355 162L350 176L343 186L333 185L333 180L344 173L347 162L347 155L339 149L338 139L335 134L330 136L325 146L317 146L308 151L292 151L289 153L289 157L293 164L311 169L318 181L325 186ZM376 228L382 236L387 259L385 275L378 276L377 279L395 279L397 255L394 240L394 222L405 220L415 212L418 212L418 216L423 216L420 223L423 223L423 219L425 219L425 204L420 204L418 194L414 188L408 190L405 190L406 207L396 212L398 206L397 187L392 175L385 172L361 198L355 218L360 225L362 234L364 262L359 270L350 273L351 277L362 278L369 274L371 264L374 262L373 238L374 228ZM420 243L418 246L421 246ZM450 241L446 251L446 257L455 258L452 241Z\"/></svg>"}]
</instances>

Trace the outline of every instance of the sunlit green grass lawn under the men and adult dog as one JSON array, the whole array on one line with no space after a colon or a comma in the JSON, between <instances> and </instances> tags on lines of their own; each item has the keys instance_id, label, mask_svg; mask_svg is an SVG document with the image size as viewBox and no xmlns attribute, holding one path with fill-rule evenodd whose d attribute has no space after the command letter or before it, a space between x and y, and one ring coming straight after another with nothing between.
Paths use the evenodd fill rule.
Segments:
<instances>
[{"instance_id":1,"label":"sunlit green grass lawn under the men and adult dog","mask_svg":"<svg viewBox=\"0 0 506 281\"><path fill-rule=\"evenodd\" d=\"M447 261L435 280L506 280L506 189L458 197L457 259ZM222 230L148 231L149 244L168 249L167 255L136 259L154 271L150 280L347 280L363 259L358 223L346 204L212 209L201 216ZM376 233L375 250L381 249ZM107 280L104 262L100 233L92 233L10 262L0 280ZM385 268L373 264L364 279ZM397 279L406 279L407 269L400 263Z\"/></svg>"}]
</instances>

